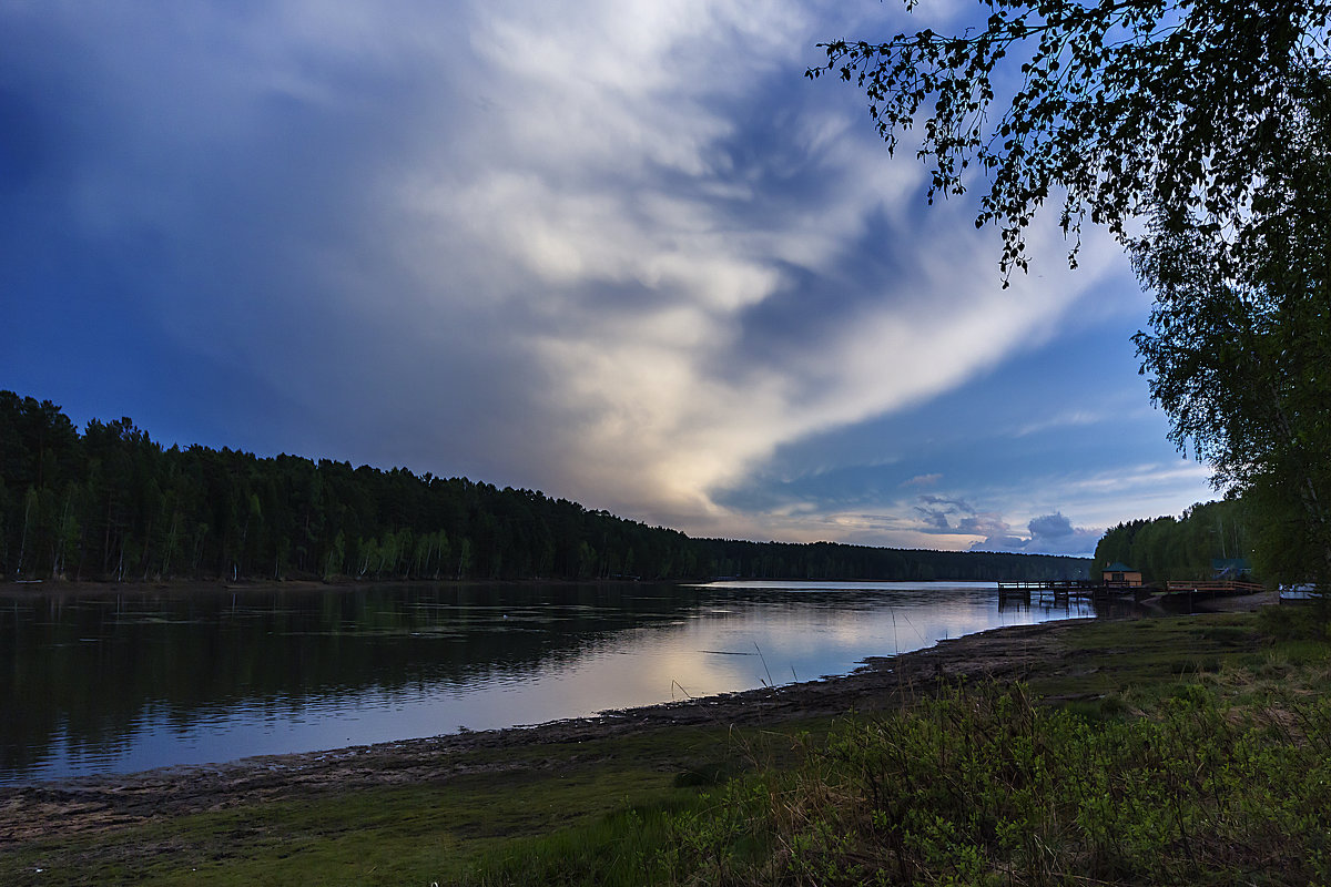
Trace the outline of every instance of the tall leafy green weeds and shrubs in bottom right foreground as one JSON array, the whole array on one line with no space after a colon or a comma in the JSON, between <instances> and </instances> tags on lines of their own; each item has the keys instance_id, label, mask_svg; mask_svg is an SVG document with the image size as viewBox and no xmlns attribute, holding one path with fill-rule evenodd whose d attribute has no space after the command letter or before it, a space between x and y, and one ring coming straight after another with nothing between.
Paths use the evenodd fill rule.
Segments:
<instances>
[{"instance_id":1,"label":"tall leafy green weeds and shrubs in bottom right foreground","mask_svg":"<svg viewBox=\"0 0 1331 887\"><path fill-rule=\"evenodd\" d=\"M1021 686L851 719L671 819L677 883L1326 883L1331 706L1183 688L1091 721Z\"/></svg>"}]
</instances>

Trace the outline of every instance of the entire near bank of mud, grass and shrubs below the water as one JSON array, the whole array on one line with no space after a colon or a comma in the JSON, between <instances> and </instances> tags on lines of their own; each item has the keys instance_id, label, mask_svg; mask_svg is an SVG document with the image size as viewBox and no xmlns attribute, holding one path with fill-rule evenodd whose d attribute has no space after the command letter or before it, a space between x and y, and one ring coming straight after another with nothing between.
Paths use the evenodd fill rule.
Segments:
<instances>
[{"instance_id":1,"label":"entire near bank of mud, grass and shrubs below the water","mask_svg":"<svg viewBox=\"0 0 1331 887\"><path fill-rule=\"evenodd\" d=\"M534 727L0 787L0 880L1324 880L1326 621L1271 600Z\"/></svg>"}]
</instances>

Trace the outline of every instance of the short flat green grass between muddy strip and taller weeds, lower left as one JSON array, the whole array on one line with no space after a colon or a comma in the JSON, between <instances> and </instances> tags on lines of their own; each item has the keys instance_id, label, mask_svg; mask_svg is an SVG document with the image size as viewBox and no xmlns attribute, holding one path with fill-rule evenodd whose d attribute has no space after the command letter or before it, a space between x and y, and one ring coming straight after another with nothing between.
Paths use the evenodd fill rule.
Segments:
<instances>
[{"instance_id":1,"label":"short flat green grass between muddy strip and taller weeds, lower left","mask_svg":"<svg viewBox=\"0 0 1331 887\"><path fill-rule=\"evenodd\" d=\"M572 859L567 842L595 847L598 834L624 846L618 819L687 806L751 766L749 743L761 741L715 726L480 749L450 758L478 773L437 785L330 787L7 847L0 883L495 883L476 872L508 859Z\"/></svg>"}]
</instances>

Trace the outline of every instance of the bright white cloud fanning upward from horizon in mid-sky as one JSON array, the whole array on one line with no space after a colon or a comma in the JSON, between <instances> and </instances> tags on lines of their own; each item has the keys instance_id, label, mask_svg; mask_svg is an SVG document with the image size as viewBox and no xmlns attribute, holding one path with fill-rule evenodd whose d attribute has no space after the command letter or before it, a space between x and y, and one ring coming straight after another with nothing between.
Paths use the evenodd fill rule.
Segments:
<instances>
[{"instance_id":1,"label":"bright white cloud fanning upward from horizon in mid-sky","mask_svg":"<svg viewBox=\"0 0 1331 887\"><path fill-rule=\"evenodd\" d=\"M820 36L809 16L760 12L474 12L480 69L466 82L483 88L484 109L450 106L461 142L414 156L395 193L411 221L409 271L439 282L422 310L486 338L473 372L526 364L544 380L539 394L527 379L531 396L484 404L476 424L490 432L476 445L487 456L473 461L491 476L724 532L743 517L712 491L781 443L936 396L1046 340L1115 267L1114 251L1091 243L1077 275L1053 258L1044 279L1000 293L994 237L970 231L961 205L920 221L918 165L889 162L832 84L800 80ZM453 59L438 63L445 80L455 74ZM787 90L821 90L821 104ZM752 120L735 114L764 102L785 125L745 130ZM873 283L849 281L847 266L876 249L870 230L921 246L901 249ZM799 293L809 281L815 291ZM815 318L819 293L836 287L853 299L829 305L824 328L744 351L751 311L793 289ZM447 390L437 396L449 411ZM520 464L494 457L504 428L535 434L540 455L516 445L507 451Z\"/></svg>"}]
</instances>

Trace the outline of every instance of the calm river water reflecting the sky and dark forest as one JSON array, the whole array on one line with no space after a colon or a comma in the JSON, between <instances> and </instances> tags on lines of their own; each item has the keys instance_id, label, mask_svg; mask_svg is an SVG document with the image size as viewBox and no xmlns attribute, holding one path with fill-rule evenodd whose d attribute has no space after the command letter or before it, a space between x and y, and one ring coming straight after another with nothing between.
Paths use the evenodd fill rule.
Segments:
<instances>
[{"instance_id":1,"label":"calm river water reflecting the sky and dark forest","mask_svg":"<svg viewBox=\"0 0 1331 887\"><path fill-rule=\"evenodd\" d=\"M0 783L539 723L1093 614L989 582L0 597Z\"/></svg>"}]
</instances>

